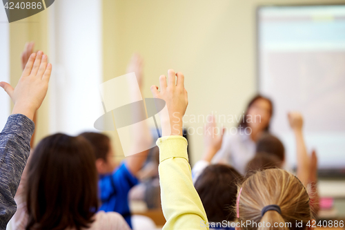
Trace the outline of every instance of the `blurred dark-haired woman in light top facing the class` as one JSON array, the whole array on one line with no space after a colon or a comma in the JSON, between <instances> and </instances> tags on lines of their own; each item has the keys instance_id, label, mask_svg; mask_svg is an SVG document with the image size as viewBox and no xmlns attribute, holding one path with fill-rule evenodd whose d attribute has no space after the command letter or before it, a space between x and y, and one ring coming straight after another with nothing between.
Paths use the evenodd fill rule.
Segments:
<instances>
[{"instance_id":1,"label":"blurred dark-haired woman in light top facing the class","mask_svg":"<svg viewBox=\"0 0 345 230\"><path fill-rule=\"evenodd\" d=\"M221 149L213 158L213 163L230 164L239 173L246 173L248 162L255 155L255 142L262 133L269 132L273 115L273 103L267 97L257 95L250 100L244 117L235 134L224 135Z\"/></svg>"}]
</instances>

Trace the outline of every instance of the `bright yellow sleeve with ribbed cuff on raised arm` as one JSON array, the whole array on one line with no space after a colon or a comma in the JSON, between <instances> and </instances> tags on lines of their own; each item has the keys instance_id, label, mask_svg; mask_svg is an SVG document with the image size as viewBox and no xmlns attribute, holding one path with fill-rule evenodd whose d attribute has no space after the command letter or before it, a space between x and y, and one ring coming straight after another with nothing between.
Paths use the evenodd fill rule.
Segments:
<instances>
[{"instance_id":1,"label":"bright yellow sleeve with ribbed cuff on raised arm","mask_svg":"<svg viewBox=\"0 0 345 230\"><path fill-rule=\"evenodd\" d=\"M208 229L206 212L193 186L187 144L181 136L157 140L161 207L166 218L163 229Z\"/></svg>"}]
</instances>

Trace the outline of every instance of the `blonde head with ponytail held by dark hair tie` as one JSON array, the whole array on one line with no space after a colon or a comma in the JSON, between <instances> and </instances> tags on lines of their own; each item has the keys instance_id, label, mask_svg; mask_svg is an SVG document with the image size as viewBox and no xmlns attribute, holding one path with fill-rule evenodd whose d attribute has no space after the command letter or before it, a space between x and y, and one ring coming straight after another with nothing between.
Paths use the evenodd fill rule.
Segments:
<instances>
[{"instance_id":1,"label":"blonde head with ponytail held by dark hair tie","mask_svg":"<svg viewBox=\"0 0 345 230\"><path fill-rule=\"evenodd\" d=\"M304 185L282 169L258 171L247 178L239 188L236 211L239 222L250 223L243 230L306 229L312 219Z\"/></svg>"}]
</instances>

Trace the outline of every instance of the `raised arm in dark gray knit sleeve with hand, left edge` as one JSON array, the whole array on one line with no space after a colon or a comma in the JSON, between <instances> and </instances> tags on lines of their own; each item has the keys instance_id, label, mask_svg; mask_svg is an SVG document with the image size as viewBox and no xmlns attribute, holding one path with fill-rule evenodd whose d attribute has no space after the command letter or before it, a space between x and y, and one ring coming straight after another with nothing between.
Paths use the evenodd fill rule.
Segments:
<instances>
[{"instance_id":1,"label":"raised arm in dark gray knit sleeve with hand, left edge","mask_svg":"<svg viewBox=\"0 0 345 230\"><path fill-rule=\"evenodd\" d=\"M32 119L46 97L51 72L48 57L39 51L28 58L15 88L0 82L14 103L12 115L0 133L0 229L6 229L17 210L14 195L30 154Z\"/></svg>"}]
</instances>

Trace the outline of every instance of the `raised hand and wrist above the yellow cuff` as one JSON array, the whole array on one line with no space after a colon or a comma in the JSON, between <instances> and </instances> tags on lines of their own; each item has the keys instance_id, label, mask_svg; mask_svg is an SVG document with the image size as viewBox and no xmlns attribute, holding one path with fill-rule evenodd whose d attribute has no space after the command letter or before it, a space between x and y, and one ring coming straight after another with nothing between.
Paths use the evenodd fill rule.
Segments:
<instances>
[{"instance_id":1,"label":"raised hand and wrist above the yellow cuff","mask_svg":"<svg viewBox=\"0 0 345 230\"><path fill-rule=\"evenodd\" d=\"M175 78L177 77L177 84ZM175 74L174 70L168 70L168 86L166 84L166 76L159 77L159 85L151 86L153 97L164 99L168 108L168 114L159 113L161 119L162 135L182 135L182 117L186 113L188 106L188 94L184 88L184 75L182 73ZM169 126L171 133L169 132Z\"/></svg>"}]
</instances>

